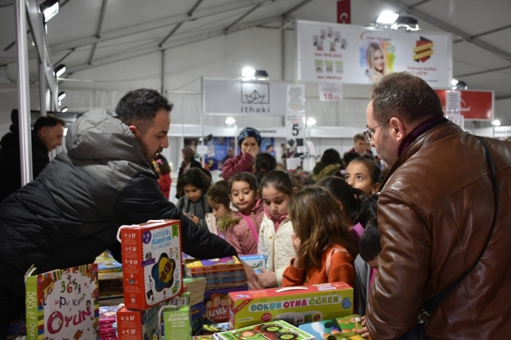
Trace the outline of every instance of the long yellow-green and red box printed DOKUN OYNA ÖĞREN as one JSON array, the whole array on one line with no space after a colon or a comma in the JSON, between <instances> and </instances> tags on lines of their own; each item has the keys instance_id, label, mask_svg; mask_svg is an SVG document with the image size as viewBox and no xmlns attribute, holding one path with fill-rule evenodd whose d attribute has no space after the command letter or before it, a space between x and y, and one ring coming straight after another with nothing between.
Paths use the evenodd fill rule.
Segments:
<instances>
[{"instance_id":1,"label":"long yellow-green and red box printed DOKUN OYNA \u00d6\u011eREN","mask_svg":"<svg viewBox=\"0 0 511 340\"><path fill-rule=\"evenodd\" d=\"M344 282L247 290L229 298L231 329L278 319L298 326L353 314L353 288Z\"/></svg>"}]
</instances>

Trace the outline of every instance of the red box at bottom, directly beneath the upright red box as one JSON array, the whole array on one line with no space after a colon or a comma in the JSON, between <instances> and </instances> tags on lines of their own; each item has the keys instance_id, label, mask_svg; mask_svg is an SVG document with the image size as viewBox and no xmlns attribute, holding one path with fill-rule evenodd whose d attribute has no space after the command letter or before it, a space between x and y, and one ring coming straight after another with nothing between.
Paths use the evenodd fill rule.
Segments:
<instances>
[{"instance_id":1,"label":"red box at bottom, directly beneath the upright red box","mask_svg":"<svg viewBox=\"0 0 511 340\"><path fill-rule=\"evenodd\" d=\"M163 304L163 303L162 303ZM162 339L160 304L147 310L117 310L117 337L119 340Z\"/></svg>"}]
</instances>

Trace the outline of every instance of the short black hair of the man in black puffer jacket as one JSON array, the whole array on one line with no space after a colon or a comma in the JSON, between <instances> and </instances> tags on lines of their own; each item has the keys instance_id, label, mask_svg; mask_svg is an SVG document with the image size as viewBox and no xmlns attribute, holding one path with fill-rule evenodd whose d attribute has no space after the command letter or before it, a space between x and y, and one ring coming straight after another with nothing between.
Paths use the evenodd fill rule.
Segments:
<instances>
[{"instance_id":1,"label":"short black hair of the man in black puffer jacket","mask_svg":"<svg viewBox=\"0 0 511 340\"><path fill-rule=\"evenodd\" d=\"M173 104L155 90L140 88L130 91L121 98L115 113L128 126L152 121L159 110L171 112Z\"/></svg>"}]
</instances>

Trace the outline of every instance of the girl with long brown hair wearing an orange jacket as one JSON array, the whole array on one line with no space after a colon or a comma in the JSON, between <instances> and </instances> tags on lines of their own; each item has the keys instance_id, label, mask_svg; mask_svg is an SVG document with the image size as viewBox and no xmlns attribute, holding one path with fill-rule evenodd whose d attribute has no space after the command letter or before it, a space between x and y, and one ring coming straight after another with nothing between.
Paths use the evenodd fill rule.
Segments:
<instances>
[{"instance_id":1,"label":"girl with long brown hair wearing an orange jacket","mask_svg":"<svg viewBox=\"0 0 511 340\"><path fill-rule=\"evenodd\" d=\"M325 188L305 188L291 197L289 217L296 257L282 275L282 286L343 281L353 286L354 245L349 222Z\"/></svg>"}]
</instances>

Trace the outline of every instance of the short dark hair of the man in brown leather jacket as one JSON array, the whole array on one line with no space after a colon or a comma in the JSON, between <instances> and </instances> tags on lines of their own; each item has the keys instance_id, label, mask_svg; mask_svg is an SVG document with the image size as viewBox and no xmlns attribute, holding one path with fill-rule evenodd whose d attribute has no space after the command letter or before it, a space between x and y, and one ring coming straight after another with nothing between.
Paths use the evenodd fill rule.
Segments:
<instances>
[{"instance_id":1,"label":"short dark hair of the man in brown leather jacket","mask_svg":"<svg viewBox=\"0 0 511 340\"><path fill-rule=\"evenodd\" d=\"M385 123L392 117L405 123L422 123L443 116L436 92L408 72L393 72L380 79L372 88L371 100L376 123Z\"/></svg>"}]
</instances>

